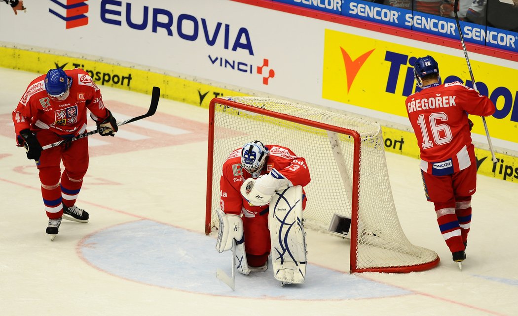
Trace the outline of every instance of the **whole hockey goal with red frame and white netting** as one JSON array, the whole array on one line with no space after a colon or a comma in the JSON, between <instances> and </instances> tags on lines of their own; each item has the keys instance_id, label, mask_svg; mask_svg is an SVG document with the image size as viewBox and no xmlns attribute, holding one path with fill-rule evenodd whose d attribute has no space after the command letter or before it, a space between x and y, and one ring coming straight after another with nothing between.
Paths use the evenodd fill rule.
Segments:
<instances>
[{"instance_id":1,"label":"whole hockey goal with red frame and white netting","mask_svg":"<svg viewBox=\"0 0 518 316\"><path fill-rule=\"evenodd\" d=\"M305 227L328 232L333 215L351 218L350 273L406 273L435 267L437 253L411 244L397 217L377 123L288 101L214 98L209 107L205 233L219 228L220 177L247 142L289 147L306 158L311 182Z\"/></svg>"}]
</instances>

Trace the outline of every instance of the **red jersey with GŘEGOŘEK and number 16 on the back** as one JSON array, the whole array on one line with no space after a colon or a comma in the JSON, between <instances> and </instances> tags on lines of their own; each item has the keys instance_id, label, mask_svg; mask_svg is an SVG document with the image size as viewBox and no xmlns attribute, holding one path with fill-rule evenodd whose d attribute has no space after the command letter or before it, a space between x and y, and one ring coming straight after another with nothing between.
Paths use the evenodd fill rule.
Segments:
<instances>
[{"instance_id":1,"label":"red jersey with G\u0158EGO\u0158EK and number 16 on the back","mask_svg":"<svg viewBox=\"0 0 518 316\"><path fill-rule=\"evenodd\" d=\"M475 162L468 115L495 113L495 104L460 82L431 86L405 101L421 149L421 169L435 175L463 170Z\"/></svg>"}]
</instances>

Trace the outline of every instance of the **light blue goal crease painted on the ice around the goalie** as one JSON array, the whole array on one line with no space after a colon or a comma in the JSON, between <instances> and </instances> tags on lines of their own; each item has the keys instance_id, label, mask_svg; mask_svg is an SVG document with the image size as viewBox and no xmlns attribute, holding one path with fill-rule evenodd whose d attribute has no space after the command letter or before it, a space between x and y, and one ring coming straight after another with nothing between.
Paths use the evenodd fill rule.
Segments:
<instances>
[{"instance_id":1,"label":"light blue goal crease painted on the ice around the goalie","mask_svg":"<svg viewBox=\"0 0 518 316\"><path fill-rule=\"evenodd\" d=\"M281 288L271 272L236 275L236 291L215 277L231 274L230 252L218 253L214 239L152 220L109 227L83 238L79 255L92 267L126 280L195 294L282 300L346 300L414 294L308 263L303 284ZM310 260L311 257L308 259Z\"/></svg>"}]
</instances>

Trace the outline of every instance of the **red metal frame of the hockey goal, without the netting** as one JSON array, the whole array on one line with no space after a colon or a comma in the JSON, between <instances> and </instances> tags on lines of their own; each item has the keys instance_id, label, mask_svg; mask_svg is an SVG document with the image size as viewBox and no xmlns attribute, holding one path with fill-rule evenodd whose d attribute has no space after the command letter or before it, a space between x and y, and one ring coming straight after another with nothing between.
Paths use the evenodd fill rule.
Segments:
<instances>
[{"instance_id":1,"label":"red metal frame of the hockey goal, without the netting","mask_svg":"<svg viewBox=\"0 0 518 316\"><path fill-rule=\"evenodd\" d=\"M294 117L287 114L277 113L274 111L256 108L247 104L238 103L235 101L213 98L209 104L209 129L208 129L208 149L207 149L207 194L206 194L206 212L205 212L205 234L211 233L211 222L212 222L212 184L213 180L213 153L214 153L214 108L215 104L221 104L230 108L235 108L242 111L252 112L256 114L263 114L270 117L283 119L296 124L302 124L313 128L320 128L326 131L332 131L340 134L346 134L353 139L353 168L352 168L352 199L351 199L351 230L350 230L350 260L349 260L349 272L386 272L386 273L409 273L419 272L427 270L438 265L439 257L435 261L420 264L420 265L409 265L409 266L396 266L396 267L372 267L372 268L357 268L357 234L358 234L358 202L359 202L359 182L360 178L360 165L361 165L361 148L362 140L360 134L352 129L337 127L328 125L325 123L310 121L309 119Z\"/></svg>"}]
</instances>

